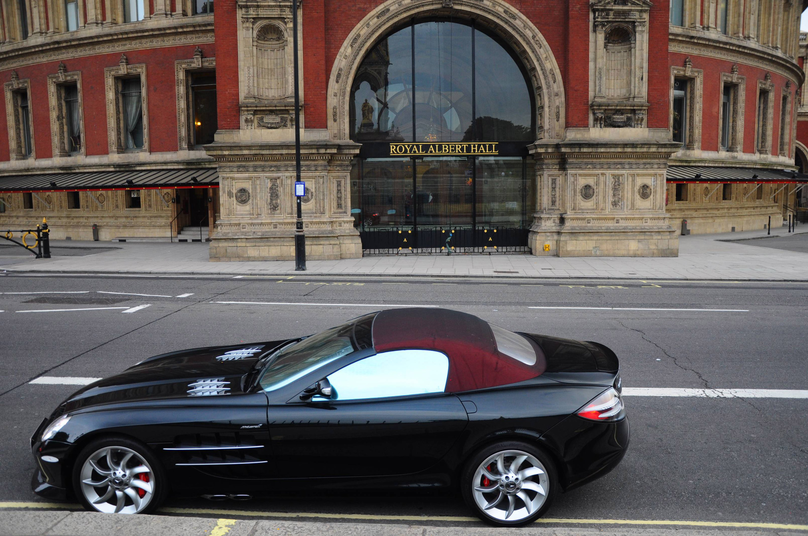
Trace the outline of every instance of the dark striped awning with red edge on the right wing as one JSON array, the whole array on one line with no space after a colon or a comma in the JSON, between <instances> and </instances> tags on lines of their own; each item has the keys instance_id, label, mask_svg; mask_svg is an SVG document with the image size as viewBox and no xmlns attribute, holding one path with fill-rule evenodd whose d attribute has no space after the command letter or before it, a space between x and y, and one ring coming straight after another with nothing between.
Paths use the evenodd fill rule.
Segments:
<instances>
[{"instance_id":1,"label":"dark striped awning with red edge on the right wing","mask_svg":"<svg viewBox=\"0 0 808 536\"><path fill-rule=\"evenodd\" d=\"M667 182L716 184L726 183L777 183L805 184L808 175L797 171L772 170L718 165L670 165L667 168Z\"/></svg>"}]
</instances>

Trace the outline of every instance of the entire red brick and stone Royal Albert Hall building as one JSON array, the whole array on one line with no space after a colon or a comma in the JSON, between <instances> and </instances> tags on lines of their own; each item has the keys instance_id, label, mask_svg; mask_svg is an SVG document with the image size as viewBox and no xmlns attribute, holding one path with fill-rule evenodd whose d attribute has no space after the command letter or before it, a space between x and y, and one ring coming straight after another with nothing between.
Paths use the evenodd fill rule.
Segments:
<instances>
[{"instance_id":1,"label":"entire red brick and stone Royal Albert Hall building","mask_svg":"<svg viewBox=\"0 0 808 536\"><path fill-rule=\"evenodd\" d=\"M291 0L0 0L0 228L294 258L295 128L309 259L675 256L803 214L808 2L297 5L296 124Z\"/></svg>"}]
</instances>

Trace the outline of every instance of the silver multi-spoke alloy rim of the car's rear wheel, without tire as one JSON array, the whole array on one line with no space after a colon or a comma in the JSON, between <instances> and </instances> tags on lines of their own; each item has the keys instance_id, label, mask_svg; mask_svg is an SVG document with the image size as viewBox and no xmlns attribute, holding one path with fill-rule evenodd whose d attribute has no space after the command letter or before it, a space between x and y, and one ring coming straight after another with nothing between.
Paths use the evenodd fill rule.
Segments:
<instances>
[{"instance_id":1,"label":"silver multi-spoke alloy rim of the car's rear wheel, without tire","mask_svg":"<svg viewBox=\"0 0 808 536\"><path fill-rule=\"evenodd\" d=\"M545 466L521 450L503 450L486 458L471 482L474 502L497 521L522 521L547 500Z\"/></svg>"}]
</instances>

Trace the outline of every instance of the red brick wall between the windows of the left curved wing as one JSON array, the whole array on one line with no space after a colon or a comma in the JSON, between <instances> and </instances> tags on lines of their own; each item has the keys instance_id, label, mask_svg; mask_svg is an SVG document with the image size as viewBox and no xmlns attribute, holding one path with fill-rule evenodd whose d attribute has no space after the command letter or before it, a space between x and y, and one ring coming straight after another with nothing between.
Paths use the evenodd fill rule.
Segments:
<instances>
[{"instance_id":1,"label":"red brick wall between the windows of the left curved wing","mask_svg":"<svg viewBox=\"0 0 808 536\"><path fill-rule=\"evenodd\" d=\"M194 48L195 45L187 45L126 52L130 65L146 65L149 150L152 153L177 150L177 97L174 62L191 59ZM213 44L204 44L200 48L203 50L204 57L216 57L216 48ZM117 52L65 61L68 71L81 71L82 73L84 143L87 156L109 152L103 69L116 67L119 61L120 53ZM53 156L48 115L48 74L56 73L58 65L58 61L51 61L17 69L20 79L28 78L31 81L31 111L37 158ZM9 80L11 80L11 71L0 73L0 82L5 83ZM8 160L6 114L0 113L0 161Z\"/></svg>"}]
</instances>

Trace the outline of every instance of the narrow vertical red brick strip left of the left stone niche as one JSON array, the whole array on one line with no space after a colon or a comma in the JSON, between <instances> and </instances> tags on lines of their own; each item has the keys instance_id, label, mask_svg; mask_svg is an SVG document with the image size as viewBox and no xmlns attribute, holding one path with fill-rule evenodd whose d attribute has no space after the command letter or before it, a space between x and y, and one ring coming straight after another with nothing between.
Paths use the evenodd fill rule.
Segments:
<instances>
[{"instance_id":1,"label":"narrow vertical red brick strip left of the left stone niche","mask_svg":"<svg viewBox=\"0 0 808 536\"><path fill-rule=\"evenodd\" d=\"M216 0L213 31L220 57L216 65L216 109L220 130L238 130L238 20L236 0Z\"/></svg>"}]
</instances>

